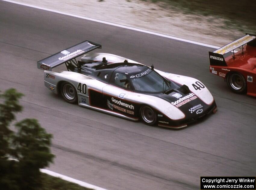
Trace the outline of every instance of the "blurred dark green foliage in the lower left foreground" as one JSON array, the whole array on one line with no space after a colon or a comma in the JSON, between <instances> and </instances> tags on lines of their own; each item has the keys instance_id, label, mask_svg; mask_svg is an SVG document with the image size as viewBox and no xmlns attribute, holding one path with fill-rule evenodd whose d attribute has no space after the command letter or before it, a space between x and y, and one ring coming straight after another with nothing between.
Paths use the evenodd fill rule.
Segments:
<instances>
[{"instance_id":1,"label":"blurred dark green foliage in the lower left foreground","mask_svg":"<svg viewBox=\"0 0 256 190\"><path fill-rule=\"evenodd\" d=\"M0 187L8 190L34 190L42 185L40 168L47 167L54 155L50 152L52 135L36 119L24 119L10 129L14 113L22 106L23 94L9 89L0 98ZM15 160L10 160L14 158Z\"/></svg>"}]
</instances>

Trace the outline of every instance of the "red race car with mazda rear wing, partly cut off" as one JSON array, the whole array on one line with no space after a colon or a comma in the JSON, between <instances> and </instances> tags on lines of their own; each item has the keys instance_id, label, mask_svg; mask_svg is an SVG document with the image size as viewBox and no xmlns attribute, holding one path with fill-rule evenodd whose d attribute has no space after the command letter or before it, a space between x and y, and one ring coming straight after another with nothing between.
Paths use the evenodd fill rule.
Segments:
<instances>
[{"instance_id":1,"label":"red race car with mazda rear wing, partly cut off","mask_svg":"<svg viewBox=\"0 0 256 190\"><path fill-rule=\"evenodd\" d=\"M238 50L238 51L236 51ZM228 55L229 53L231 55ZM223 77L236 93L256 97L256 36L245 36L211 52L210 72Z\"/></svg>"}]
</instances>

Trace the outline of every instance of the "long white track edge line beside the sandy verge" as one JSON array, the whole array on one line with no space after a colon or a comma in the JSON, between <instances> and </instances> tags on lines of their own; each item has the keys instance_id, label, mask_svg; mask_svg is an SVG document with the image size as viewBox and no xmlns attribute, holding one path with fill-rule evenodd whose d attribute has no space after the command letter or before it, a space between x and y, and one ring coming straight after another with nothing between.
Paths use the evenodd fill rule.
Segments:
<instances>
[{"instance_id":1,"label":"long white track edge line beside the sandy verge","mask_svg":"<svg viewBox=\"0 0 256 190\"><path fill-rule=\"evenodd\" d=\"M65 14L65 15L68 15L68 16L71 16L71 17L82 18L82 19L91 20L91 21L95 21L95 22L99 22L99 23L103 23L103 24L108 24L108 25L112 25L112 26L118 26L118 27L121 27L121 28L126 28L126 29L130 29L130 30L143 32L143 33L153 34L153 35L156 35L156 36L162 36L162 37L165 37L165 38L175 39L175 40L188 42L188 43L192 43L192 44L196 44L196 45L202 45L202 46L215 48L215 49L220 48L220 47L215 46L215 45L209 45L209 44L205 44L205 43L201 43L201 42L195 42L195 41L188 40L188 39L183 39L183 38L178 38L178 37L174 37L174 36L169 36L169 35L166 35L166 34L151 32L151 31L148 31L148 30L142 30L142 29L139 29L139 28L134 28L134 27L125 26L125 25L121 25L121 24L115 24L115 23L111 23L111 22L107 22L107 21L103 21L103 20L98 20L98 19L94 19L94 18L83 17L83 16L70 14L70 13L64 13L64 12L61 12L61 11L55 11L55 10L52 10L52 9L38 7L38 6L34 6L34 5L29 5L29 4L26 4L26 3L20 3L20 2L16 2L16 1L10 1L10 0L2 0L2 1L15 3L15 4L18 4L18 5L24 5L24 6L28 6L28 7L33 7L33 8L37 8L37 9L42 9L42 10L45 10L45 11L51 11L51 12L55 12L55 13L59 13L59 14Z\"/></svg>"}]
</instances>

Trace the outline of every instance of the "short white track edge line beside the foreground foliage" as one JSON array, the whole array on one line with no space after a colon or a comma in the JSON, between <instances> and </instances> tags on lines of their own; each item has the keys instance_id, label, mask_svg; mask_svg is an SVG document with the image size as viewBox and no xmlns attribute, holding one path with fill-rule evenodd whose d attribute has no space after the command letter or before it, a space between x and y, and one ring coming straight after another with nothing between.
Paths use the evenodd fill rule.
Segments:
<instances>
[{"instance_id":1,"label":"short white track edge line beside the foreground foliage","mask_svg":"<svg viewBox=\"0 0 256 190\"><path fill-rule=\"evenodd\" d=\"M59 177L59 178L64 179L64 180L66 180L68 182L76 183L76 184L78 184L78 185L80 185L82 187L91 188L91 189L95 189L95 190L107 190L107 189L104 189L104 188L101 188L101 187L97 187L95 185L91 185L91 184L86 183L86 182L79 181L77 179L73 179L71 177L67 177L67 176L61 175L59 173L52 172L50 170L40 169L40 171L42 173L46 173L46 174L54 176L54 177Z\"/></svg>"}]
</instances>

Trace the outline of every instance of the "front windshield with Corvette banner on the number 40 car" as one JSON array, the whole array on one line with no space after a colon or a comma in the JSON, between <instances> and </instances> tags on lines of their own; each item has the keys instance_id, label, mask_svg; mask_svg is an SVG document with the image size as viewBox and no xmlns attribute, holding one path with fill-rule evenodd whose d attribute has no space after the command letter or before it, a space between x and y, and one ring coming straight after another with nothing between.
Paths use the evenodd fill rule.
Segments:
<instances>
[{"instance_id":1,"label":"front windshield with Corvette banner on the number 40 car","mask_svg":"<svg viewBox=\"0 0 256 190\"><path fill-rule=\"evenodd\" d=\"M142 92L163 92L170 87L170 81L164 80L151 69L143 73L130 76L133 87L136 91Z\"/></svg>"}]
</instances>

